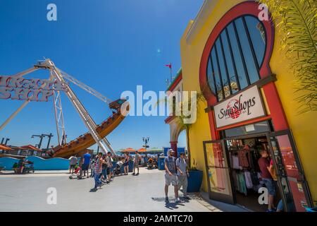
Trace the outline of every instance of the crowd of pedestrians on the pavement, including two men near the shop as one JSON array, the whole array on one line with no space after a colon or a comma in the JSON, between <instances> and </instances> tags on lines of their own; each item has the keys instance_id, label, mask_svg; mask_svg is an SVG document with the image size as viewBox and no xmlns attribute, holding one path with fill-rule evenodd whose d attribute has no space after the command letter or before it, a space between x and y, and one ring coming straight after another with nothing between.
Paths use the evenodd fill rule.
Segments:
<instances>
[{"instance_id":1,"label":"crowd of pedestrians on the pavement, including two men near the shop","mask_svg":"<svg viewBox=\"0 0 317 226\"><path fill-rule=\"evenodd\" d=\"M113 155L108 152L107 154L98 153L93 157L89 151L83 155L79 162L76 156L70 157L70 179L77 177L82 179L84 177L94 178L94 188L92 191L97 191L102 185L108 184L113 181L114 176L128 175L129 162L133 162L132 175L139 175L139 166L147 167L148 169L158 168L158 157L142 156L138 152L134 156L125 153L124 156L116 156L114 164ZM168 156L164 160L166 170L165 174L165 194L166 202L168 202L168 186L174 186L174 193L176 202L180 202L178 191L182 188L183 198L189 199L187 196L187 177L188 166L185 153L180 153L179 158L174 157L174 151L168 150ZM123 170L122 170L123 168ZM90 172L89 172L90 171Z\"/></svg>"}]
</instances>

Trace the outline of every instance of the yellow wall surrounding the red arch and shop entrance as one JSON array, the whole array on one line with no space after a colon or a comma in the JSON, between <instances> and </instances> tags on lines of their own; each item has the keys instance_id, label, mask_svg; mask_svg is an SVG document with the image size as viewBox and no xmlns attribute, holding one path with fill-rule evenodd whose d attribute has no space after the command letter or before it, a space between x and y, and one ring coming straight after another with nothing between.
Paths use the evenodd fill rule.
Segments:
<instances>
[{"instance_id":1,"label":"yellow wall surrounding the red arch and shop entrance","mask_svg":"<svg viewBox=\"0 0 317 226\"><path fill-rule=\"evenodd\" d=\"M212 4L206 4L210 7L204 10L209 11L207 16L202 17L204 21L198 31L194 31L194 37L190 37L191 42L187 43L187 32L194 23L189 21L187 28L180 40L180 52L182 57L182 83L184 90L200 91L199 86L199 65L201 54L204 50L206 40L213 30L218 20L233 6L242 2L241 0L216 1ZM275 82L282 106L284 107L287 121L294 135L299 156L302 160L306 179L309 182L309 188L313 201L317 200L317 114L310 112L306 114L297 114L299 104L294 101L294 76L288 69L290 62L285 59L285 54L280 51L280 33L275 28L275 43L271 57L272 72L277 75L278 81ZM189 145L192 160L197 162L197 167L204 171L203 190L208 191L206 181L206 169L204 162L203 141L211 140L208 115L204 112L206 102L199 105L198 117L195 124L189 129Z\"/></svg>"}]
</instances>

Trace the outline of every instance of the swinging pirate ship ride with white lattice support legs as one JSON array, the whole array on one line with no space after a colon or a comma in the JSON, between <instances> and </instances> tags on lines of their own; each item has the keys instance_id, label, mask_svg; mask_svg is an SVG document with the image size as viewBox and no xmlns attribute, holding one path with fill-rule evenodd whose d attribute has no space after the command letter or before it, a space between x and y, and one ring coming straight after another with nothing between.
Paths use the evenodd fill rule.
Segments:
<instances>
[{"instance_id":1,"label":"swinging pirate ship ride with white lattice support legs","mask_svg":"<svg viewBox=\"0 0 317 226\"><path fill-rule=\"evenodd\" d=\"M99 145L99 148L102 152L107 153L108 151L110 151L113 155L116 155L116 153L113 151L113 148L111 148L111 144L106 139L106 136L109 133L111 133L113 129L116 129L120 122L123 121L123 119L125 118L125 115L128 113L129 110L128 102L122 99L118 99L112 102L107 97L104 97L104 95L101 95L96 90L90 88L88 85L85 85L84 83L78 81L76 78L73 78L72 76L68 75L68 73L65 73L58 69L54 65L53 61L51 61L50 59L38 61L37 64L35 64L35 66L33 66L31 69L27 69L26 71L17 73L13 76L6 76L6 81L1 81L1 84L8 85L9 83L13 83L13 80L23 81L23 76L32 73L33 71L36 71L38 69L49 70L50 74L49 80L47 80L49 82L41 83L39 90L44 89L44 87L51 87L51 91L53 92L52 94L54 98L54 114L56 121L58 145L56 145L56 147L52 149L49 155L51 157L70 157L71 155L76 155L77 153L86 150L90 146L94 145L94 143L97 143L97 145ZM101 124L97 125L90 116L90 114L87 112L87 109L85 109L80 100L78 100L73 90L70 88L69 82L79 86L83 90L87 91L88 93L94 95L95 97L99 98L100 100L108 104L108 106L112 109L113 114L110 117L108 117L108 119L103 121ZM51 86L49 84L51 84ZM14 86L15 84L11 85ZM58 85L63 86L63 90L59 90L57 88ZM23 85L20 86L23 87ZM11 116L8 117L8 119L6 119L6 121L4 121L3 124L1 124L0 131L4 129L6 124L8 124L8 122L10 122L18 114L18 112L20 112L32 99L35 99L35 93L32 94L30 90L27 90L25 92L28 92L26 94L27 98L25 98L25 102L18 109L16 109L15 112L13 112L13 114L11 114ZM79 136L78 138L75 138L75 140L70 141L68 143L66 141L66 130L63 119L63 107L61 105L61 93L66 94L66 96L73 104L73 107L75 107L77 113L80 115L80 118L82 119L82 121L88 129L87 133L83 134L82 136ZM21 95L24 94L22 93ZM124 112L121 112L121 109L124 109Z\"/></svg>"}]
</instances>

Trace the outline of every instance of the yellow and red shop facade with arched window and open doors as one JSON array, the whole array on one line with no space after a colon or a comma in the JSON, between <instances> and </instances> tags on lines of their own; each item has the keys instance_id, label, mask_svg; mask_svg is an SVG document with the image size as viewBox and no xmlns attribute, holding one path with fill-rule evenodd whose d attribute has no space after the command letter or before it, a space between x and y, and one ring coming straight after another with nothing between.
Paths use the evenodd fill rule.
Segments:
<instances>
[{"instance_id":1,"label":"yellow and red shop facade with arched window and open doors","mask_svg":"<svg viewBox=\"0 0 317 226\"><path fill-rule=\"evenodd\" d=\"M317 115L297 113L282 34L260 12L255 1L205 1L187 25L180 40L182 90L202 92L206 100L190 126L189 150L209 197L237 203L230 148L263 142L285 209L304 211L317 200ZM177 134L171 141L177 143Z\"/></svg>"}]
</instances>

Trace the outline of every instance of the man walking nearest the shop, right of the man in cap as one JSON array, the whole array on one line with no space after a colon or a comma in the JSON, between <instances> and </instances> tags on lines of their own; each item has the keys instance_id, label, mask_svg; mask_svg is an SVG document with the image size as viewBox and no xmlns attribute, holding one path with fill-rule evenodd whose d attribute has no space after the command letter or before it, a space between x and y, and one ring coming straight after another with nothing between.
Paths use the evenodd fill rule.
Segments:
<instances>
[{"instance_id":1,"label":"man walking nearest the shop, right of the man in cap","mask_svg":"<svg viewBox=\"0 0 317 226\"><path fill-rule=\"evenodd\" d=\"M184 198L189 199L187 196L187 177L189 174L185 153L180 153L180 157L176 160L176 168L178 169L178 190L182 187Z\"/></svg>"}]
</instances>

